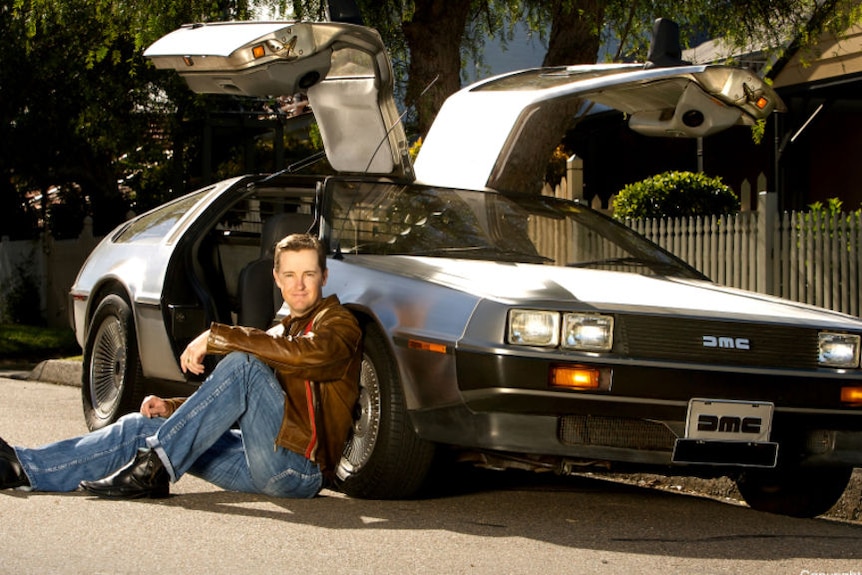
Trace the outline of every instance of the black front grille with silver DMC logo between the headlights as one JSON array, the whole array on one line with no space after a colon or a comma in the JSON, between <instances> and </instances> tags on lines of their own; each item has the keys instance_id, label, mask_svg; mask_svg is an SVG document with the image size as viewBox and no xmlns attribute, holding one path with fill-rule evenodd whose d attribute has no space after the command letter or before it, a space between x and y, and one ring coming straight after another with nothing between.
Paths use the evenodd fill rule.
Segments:
<instances>
[{"instance_id":1,"label":"black front grille with silver DMC logo between the headlights","mask_svg":"<svg viewBox=\"0 0 862 575\"><path fill-rule=\"evenodd\" d=\"M817 330L783 325L659 316L616 318L615 350L644 359L751 367L817 367ZM704 337L720 340L704 346ZM740 349L747 343L748 349Z\"/></svg>"}]
</instances>

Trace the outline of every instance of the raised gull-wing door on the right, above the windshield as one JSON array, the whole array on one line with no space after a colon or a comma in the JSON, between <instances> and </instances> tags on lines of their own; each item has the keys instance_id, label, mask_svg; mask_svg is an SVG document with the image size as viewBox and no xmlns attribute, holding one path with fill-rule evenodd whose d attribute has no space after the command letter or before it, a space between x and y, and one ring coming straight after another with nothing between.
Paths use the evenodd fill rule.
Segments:
<instances>
[{"instance_id":1,"label":"raised gull-wing door on the right, above the windshield","mask_svg":"<svg viewBox=\"0 0 862 575\"><path fill-rule=\"evenodd\" d=\"M513 72L443 104L416 159L418 181L538 193L548 159L587 114L618 110L648 136L703 137L783 109L754 73L727 66L609 64Z\"/></svg>"}]
</instances>

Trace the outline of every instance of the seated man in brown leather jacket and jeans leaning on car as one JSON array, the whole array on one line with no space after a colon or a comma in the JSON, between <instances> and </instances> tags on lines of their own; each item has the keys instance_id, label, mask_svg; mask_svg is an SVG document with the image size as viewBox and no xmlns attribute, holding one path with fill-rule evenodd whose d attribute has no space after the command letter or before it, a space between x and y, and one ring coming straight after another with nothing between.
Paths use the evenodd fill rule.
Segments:
<instances>
[{"instance_id":1,"label":"seated man in brown leather jacket and jeans leaning on car","mask_svg":"<svg viewBox=\"0 0 862 575\"><path fill-rule=\"evenodd\" d=\"M336 296L323 299L316 238L286 237L274 262L290 316L268 332L213 324L195 338L183 372L203 373L207 354L227 356L187 399L150 396L140 413L36 449L0 439L0 489L80 484L101 497L166 497L188 472L231 491L315 496L353 425L362 334Z\"/></svg>"}]
</instances>

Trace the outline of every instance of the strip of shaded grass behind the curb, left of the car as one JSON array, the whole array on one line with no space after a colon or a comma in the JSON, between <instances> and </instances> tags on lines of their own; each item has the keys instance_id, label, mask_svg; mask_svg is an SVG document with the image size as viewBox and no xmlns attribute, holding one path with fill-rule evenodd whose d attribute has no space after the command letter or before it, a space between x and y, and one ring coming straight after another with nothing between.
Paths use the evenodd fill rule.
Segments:
<instances>
[{"instance_id":1,"label":"strip of shaded grass behind the curb, left of the car","mask_svg":"<svg viewBox=\"0 0 862 575\"><path fill-rule=\"evenodd\" d=\"M80 354L70 328L0 325L0 360L35 362Z\"/></svg>"}]
</instances>

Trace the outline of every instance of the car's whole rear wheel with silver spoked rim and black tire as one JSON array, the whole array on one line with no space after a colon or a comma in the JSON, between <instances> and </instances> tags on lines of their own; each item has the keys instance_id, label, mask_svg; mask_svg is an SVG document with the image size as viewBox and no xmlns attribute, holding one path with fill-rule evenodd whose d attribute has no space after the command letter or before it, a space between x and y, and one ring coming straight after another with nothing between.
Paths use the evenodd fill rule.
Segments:
<instances>
[{"instance_id":1,"label":"car's whole rear wheel with silver spoked rim and black tire","mask_svg":"<svg viewBox=\"0 0 862 575\"><path fill-rule=\"evenodd\" d=\"M140 409L144 399L135 320L129 304L111 294L96 308L84 346L81 399L90 430Z\"/></svg>"}]
</instances>

